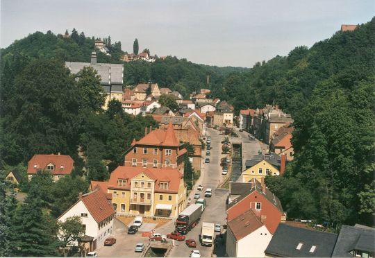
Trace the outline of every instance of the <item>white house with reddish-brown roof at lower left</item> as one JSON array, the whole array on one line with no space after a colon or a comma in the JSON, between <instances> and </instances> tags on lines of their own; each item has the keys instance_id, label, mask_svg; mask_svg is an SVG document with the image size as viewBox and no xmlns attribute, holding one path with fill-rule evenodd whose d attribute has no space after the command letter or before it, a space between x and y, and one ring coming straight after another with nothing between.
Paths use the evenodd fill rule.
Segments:
<instances>
[{"instance_id":1,"label":"white house with reddish-brown roof at lower left","mask_svg":"<svg viewBox=\"0 0 375 258\"><path fill-rule=\"evenodd\" d=\"M85 238L91 239L89 251L103 246L104 240L113 234L115 209L99 188L90 193L79 193L76 203L61 214L58 221L64 222L72 216L81 217Z\"/></svg>"}]
</instances>

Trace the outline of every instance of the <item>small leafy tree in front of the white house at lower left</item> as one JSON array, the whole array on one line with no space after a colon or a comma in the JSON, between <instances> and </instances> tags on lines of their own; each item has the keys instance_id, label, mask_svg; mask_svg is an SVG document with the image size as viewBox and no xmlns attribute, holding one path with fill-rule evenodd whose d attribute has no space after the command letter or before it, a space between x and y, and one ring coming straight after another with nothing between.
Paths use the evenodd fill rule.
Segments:
<instances>
[{"instance_id":1,"label":"small leafy tree in front of the white house at lower left","mask_svg":"<svg viewBox=\"0 0 375 258\"><path fill-rule=\"evenodd\" d=\"M67 256L66 247L80 240L84 235L85 229L81 217L72 216L64 222L58 222L58 238L60 239L60 246L63 248L64 257Z\"/></svg>"}]
</instances>

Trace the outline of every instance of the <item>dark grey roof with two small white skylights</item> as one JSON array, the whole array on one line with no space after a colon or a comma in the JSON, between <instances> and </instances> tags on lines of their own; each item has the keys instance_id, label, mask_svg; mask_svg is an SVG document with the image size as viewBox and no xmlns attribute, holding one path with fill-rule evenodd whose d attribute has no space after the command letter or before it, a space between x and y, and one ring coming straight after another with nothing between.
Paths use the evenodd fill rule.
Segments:
<instances>
[{"instance_id":1,"label":"dark grey roof with two small white skylights","mask_svg":"<svg viewBox=\"0 0 375 258\"><path fill-rule=\"evenodd\" d=\"M337 238L338 234L279 223L265 254L272 257L331 257ZM313 246L315 250L310 252Z\"/></svg>"}]
</instances>

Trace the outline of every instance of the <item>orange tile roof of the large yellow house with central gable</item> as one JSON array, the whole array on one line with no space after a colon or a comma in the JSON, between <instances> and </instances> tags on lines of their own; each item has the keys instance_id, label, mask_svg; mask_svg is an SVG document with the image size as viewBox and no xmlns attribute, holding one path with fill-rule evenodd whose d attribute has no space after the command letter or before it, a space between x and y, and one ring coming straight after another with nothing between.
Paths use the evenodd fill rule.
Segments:
<instances>
[{"instance_id":1,"label":"orange tile roof of the large yellow house with central gable","mask_svg":"<svg viewBox=\"0 0 375 258\"><path fill-rule=\"evenodd\" d=\"M178 193L180 181L183 178L183 175L177 169L172 169L172 167L154 169L136 166L117 166L110 174L108 189L131 189L131 179L141 173L144 173L156 182L155 191L158 193ZM119 187L117 184L119 179L126 179L126 186ZM160 189L160 182L169 182L168 189Z\"/></svg>"}]
</instances>

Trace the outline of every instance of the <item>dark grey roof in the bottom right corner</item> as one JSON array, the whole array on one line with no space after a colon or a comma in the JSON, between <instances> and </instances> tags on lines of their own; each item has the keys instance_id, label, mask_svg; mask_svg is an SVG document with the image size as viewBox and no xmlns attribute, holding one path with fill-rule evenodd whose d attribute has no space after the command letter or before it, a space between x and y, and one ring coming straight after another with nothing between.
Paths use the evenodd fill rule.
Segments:
<instances>
[{"instance_id":1,"label":"dark grey roof in the bottom right corner","mask_svg":"<svg viewBox=\"0 0 375 258\"><path fill-rule=\"evenodd\" d=\"M332 257L353 257L352 250L375 252L375 229L363 225L342 225Z\"/></svg>"}]
</instances>

